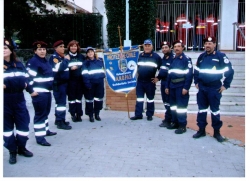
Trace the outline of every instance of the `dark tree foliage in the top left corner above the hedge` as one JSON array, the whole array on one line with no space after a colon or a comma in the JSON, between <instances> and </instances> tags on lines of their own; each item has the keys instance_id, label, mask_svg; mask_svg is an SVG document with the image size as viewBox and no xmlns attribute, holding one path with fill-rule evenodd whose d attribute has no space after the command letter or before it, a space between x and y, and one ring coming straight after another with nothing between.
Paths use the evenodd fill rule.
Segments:
<instances>
[{"instance_id":1,"label":"dark tree foliage in the top left corner above the hedge","mask_svg":"<svg viewBox=\"0 0 250 181\"><path fill-rule=\"evenodd\" d=\"M32 24L31 18L38 14L54 14L46 9L46 4L61 7L65 5L62 0L5 0L4 1L4 32L6 38L11 38L14 32L22 27ZM37 11L35 11L37 10Z\"/></svg>"}]
</instances>

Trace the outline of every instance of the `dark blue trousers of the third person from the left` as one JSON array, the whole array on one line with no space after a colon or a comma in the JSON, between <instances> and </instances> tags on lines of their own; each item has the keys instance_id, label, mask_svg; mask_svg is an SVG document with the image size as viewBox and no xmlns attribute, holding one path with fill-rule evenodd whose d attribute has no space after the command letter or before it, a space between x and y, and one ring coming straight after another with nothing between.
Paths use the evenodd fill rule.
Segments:
<instances>
[{"instance_id":1,"label":"dark blue trousers of the third person from the left","mask_svg":"<svg viewBox=\"0 0 250 181\"><path fill-rule=\"evenodd\" d=\"M57 90L53 88L53 95L56 101L55 116L56 121L65 121L66 119L66 99L67 99L67 83L57 86Z\"/></svg>"}]
</instances>

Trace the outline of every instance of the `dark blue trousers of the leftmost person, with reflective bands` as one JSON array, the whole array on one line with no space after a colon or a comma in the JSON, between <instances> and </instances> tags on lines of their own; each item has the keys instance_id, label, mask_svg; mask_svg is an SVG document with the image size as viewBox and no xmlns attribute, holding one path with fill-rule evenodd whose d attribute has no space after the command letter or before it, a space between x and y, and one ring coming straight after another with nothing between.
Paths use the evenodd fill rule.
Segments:
<instances>
[{"instance_id":1,"label":"dark blue trousers of the leftmost person, with reflective bands","mask_svg":"<svg viewBox=\"0 0 250 181\"><path fill-rule=\"evenodd\" d=\"M19 146L25 147L29 139L29 123L30 116L23 92L4 93L4 147L9 151L16 151ZM16 134L14 134L14 127L16 127Z\"/></svg>"}]
</instances>

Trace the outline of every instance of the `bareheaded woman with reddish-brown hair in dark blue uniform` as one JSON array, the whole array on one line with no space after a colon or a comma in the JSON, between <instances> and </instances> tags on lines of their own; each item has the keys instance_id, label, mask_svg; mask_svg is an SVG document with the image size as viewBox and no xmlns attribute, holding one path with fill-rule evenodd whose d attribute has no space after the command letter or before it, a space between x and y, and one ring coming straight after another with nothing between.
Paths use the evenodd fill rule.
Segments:
<instances>
[{"instance_id":1,"label":"bareheaded woman with reddish-brown hair in dark blue uniform","mask_svg":"<svg viewBox=\"0 0 250 181\"><path fill-rule=\"evenodd\" d=\"M68 103L69 112L73 122L81 122L82 96L83 96L83 80L82 80L82 64L85 57L81 54L81 47L76 40L72 40L67 46L68 55L65 56L69 60L69 82L68 82Z\"/></svg>"}]
</instances>

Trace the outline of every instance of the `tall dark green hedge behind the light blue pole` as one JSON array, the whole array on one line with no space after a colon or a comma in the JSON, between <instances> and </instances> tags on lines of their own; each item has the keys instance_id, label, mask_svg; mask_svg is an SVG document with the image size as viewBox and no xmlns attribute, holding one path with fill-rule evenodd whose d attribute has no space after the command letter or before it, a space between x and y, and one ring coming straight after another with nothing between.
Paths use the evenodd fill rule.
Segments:
<instances>
[{"instance_id":1,"label":"tall dark green hedge behind the light blue pole","mask_svg":"<svg viewBox=\"0 0 250 181\"><path fill-rule=\"evenodd\" d=\"M156 0L129 0L129 38L132 45L142 44L147 38L155 39ZM105 0L108 18L108 46L119 47L118 25L122 43L126 38L126 0Z\"/></svg>"}]
</instances>

